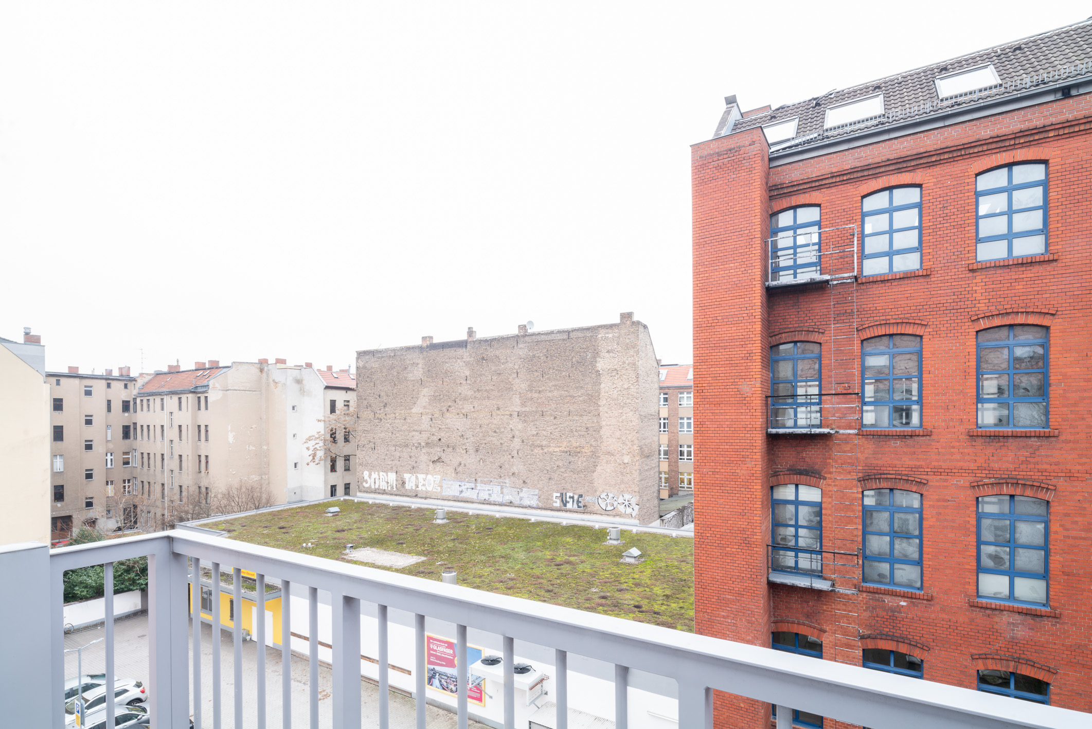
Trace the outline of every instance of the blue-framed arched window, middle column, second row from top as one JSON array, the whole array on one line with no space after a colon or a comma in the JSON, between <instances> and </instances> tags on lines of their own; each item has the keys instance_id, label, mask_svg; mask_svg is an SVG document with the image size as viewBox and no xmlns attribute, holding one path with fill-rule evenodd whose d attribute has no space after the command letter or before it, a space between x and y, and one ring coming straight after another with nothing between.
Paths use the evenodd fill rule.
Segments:
<instances>
[{"instance_id":1,"label":"blue-framed arched window, middle column, second row from top","mask_svg":"<svg viewBox=\"0 0 1092 729\"><path fill-rule=\"evenodd\" d=\"M922 427L922 338L883 334L860 343L862 427Z\"/></svg>"}]
</instances>

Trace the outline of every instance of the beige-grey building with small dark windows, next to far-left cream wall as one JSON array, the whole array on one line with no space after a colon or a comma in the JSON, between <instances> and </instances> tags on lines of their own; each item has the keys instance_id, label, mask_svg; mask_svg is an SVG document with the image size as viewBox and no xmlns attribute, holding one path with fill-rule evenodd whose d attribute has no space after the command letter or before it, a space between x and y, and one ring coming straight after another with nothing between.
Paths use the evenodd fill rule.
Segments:
<instances>
[{"instance_id":1,"label":"beige-grey building with small dark windows, next to far-left cream wall","mask_svg":"<svg viewBox=\"0 0 1092 729\"><path fill-rule=\"evenodd\" d=\"M133 398L129 367L103 374L47 372L49 386L50 532L68 539L81 525L105 531L135 529L131 494L134 468ZM128 514L128 518L126 517Z\"/></svg>"}]
</instances>

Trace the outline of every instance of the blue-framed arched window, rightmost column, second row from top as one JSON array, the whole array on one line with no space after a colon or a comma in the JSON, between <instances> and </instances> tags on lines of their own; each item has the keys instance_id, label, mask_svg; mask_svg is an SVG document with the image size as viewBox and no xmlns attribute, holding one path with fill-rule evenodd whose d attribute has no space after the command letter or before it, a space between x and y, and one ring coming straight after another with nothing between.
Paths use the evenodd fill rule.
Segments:
<instances>
[{"instance_id":1,"label":"blue-framed arched window, rightmost column, second row from top","mask_svg":"<svg viewBox=\"0 0 1092 729\"><path fill-rule=\"evenodd\" d=\"M1030 325L978 332L978 427L1049 427L1048 334Z\"/></svg>"}]
</instances>

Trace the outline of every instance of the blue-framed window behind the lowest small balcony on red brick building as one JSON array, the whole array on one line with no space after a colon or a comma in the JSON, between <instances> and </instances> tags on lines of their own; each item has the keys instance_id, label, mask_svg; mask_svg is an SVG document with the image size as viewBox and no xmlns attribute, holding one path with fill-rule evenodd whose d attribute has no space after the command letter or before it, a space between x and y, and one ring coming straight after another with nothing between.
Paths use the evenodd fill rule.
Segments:
<instances>
[{"instance_id":1,"label":"blue-framed window behind the lowest small balcony on red brick building","mask_svg":"<svg viewBox=\"0 0 1092 729\"><path fill-rule=\"evenodd\" d=\"M773 568L822 574L822 490L786 483L770 490Z\"/></svg>"}]
</instances>

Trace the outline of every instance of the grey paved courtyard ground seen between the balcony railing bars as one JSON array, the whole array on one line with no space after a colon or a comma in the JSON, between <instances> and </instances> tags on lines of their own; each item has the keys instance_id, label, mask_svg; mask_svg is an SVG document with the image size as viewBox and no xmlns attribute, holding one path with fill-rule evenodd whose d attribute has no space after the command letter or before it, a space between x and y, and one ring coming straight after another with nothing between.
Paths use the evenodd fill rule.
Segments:
<instances>
[{"instance_id":1,"label":"grey paved courtyard ground seen between the balcony railing bars","mask_svg":"<svg viewBox=\"0 0 1092 729\"><path fill-rule=\"evenodd\" d=\"M66 648L76 648L103 637L105 628L83 631L64 637ZM114 630L114 661L117 678L135 679L147 685L147 615L119 621ZM189 645L192 646L192 633ZM252 642L242 644L242 717L244 727L257 728L257 648ZM232 634L221 632L221 695L223 697L222 727L235 729L235 669L234 646ZM83 651L83 672L98 673L106 669L105 649L103 643L96 643ZM212 626L201 626L201 704L202 724L212 727ZM192 663L192 657L191 657ZM281 726L281 650L265 650L265 695L266 726ZM64 675L76 674L76 655L64 654ZM193 684L190 678L190 701L192 709ZM332 685L331 669L319 667L319 726L330 727L333 724L330 689ZM307 727L310 708L308 698L308 663L306 659L293 656L292 659L292 721L295 727ZM379 687L360 682L360 705L364 726L378 726L379 722ZM390 693L391 727L412 729L416 720L416 702L402 694ZM455 715L450 712L428 707L428 726L430 729L447 729L455 727ZM484 727L475 721L471 727Z\"/></svg>"}]
</instances>

